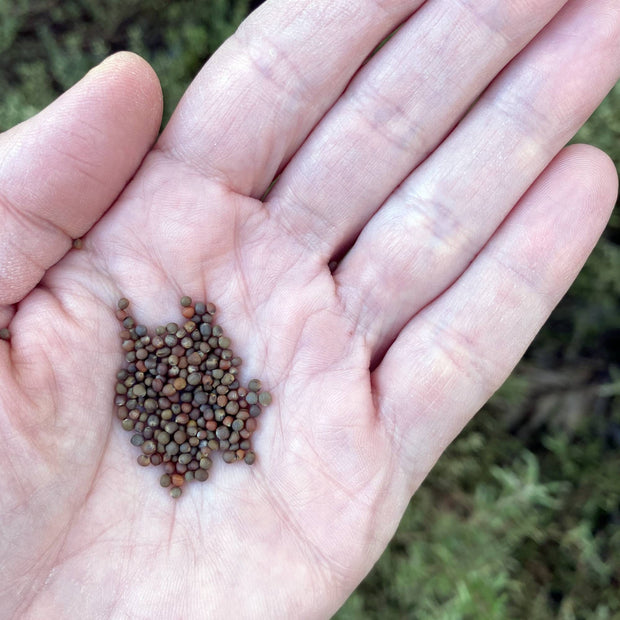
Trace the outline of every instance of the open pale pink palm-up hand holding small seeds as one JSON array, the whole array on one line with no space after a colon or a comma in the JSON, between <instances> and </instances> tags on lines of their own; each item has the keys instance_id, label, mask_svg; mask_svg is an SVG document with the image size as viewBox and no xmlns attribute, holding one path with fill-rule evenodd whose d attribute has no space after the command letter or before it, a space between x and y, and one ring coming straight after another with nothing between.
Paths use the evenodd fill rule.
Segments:
<instances>
[{"instance_id":1,"label":"open pale pink palm-up hand holding small seeds","mask_svg":"<svg viewBox=\"0 0 620 620\"><path fill-rule=\"evenodd\" d=\"M129 54L0 137L3 618L343 603L613 205L609 159L562 147L620 74L620 6L564 4L272 0L153 148ZM174 501L114 417L114 310L183 294L274 403L255 465Z\"/></svg>"}]
</instances>

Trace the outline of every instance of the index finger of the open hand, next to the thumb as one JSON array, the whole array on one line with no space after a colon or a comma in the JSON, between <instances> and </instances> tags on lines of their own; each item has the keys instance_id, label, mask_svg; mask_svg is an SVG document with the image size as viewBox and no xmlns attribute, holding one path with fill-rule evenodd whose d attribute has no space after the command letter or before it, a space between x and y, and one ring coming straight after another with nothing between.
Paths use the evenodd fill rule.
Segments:
<instances>
[{"instance_id":1,"label":"index finger of the open hand, next to the thumb","mask_svg":"<svg viewBox=\"0 0 620 620\"><path fill-rule=\"evenodd\" d=\"M368 54L423 3L265 3L198 74L157 148L260 197Z\"/></svg>"}]
</instances>

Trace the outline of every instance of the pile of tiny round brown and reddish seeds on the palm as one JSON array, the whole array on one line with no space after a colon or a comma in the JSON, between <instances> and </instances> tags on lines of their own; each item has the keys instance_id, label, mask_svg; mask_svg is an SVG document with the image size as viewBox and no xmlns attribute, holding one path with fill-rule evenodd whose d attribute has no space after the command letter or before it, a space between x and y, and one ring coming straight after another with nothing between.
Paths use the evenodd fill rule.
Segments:
<instances>
[{"instance_id":1,"label":"pile of tiny round brown and reddish seeds on the palm","mask_svg":"<svg viewBox=\"0 0 620 620\"><path fill-rule=\"evenodd\" d=\"M179 497L186 482L209 477L212 452L225 463L254 463L250 439L269 392L252 379L238 381L241 358L214 322L213 304L181 299L182 325L168 323L149 333L118 302L125 363L116 375L117 416L131 443L141 449L138 463L163 465L162 487Z\"/></svg>"}]
</instances>

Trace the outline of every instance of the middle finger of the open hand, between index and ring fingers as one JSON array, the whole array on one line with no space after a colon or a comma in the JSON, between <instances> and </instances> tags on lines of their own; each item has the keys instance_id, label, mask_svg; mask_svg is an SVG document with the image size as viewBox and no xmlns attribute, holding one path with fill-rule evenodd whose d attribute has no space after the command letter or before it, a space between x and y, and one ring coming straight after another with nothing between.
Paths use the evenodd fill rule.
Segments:
<instances>
[{"instance_id":1,"label":"middle finger of the open hand, between index and ring fingers","mask_svg":"<svg viewBox=\"0 0 620 620\"><path fill-rule=\"evenodd\" d=\"M291 160L270 212L315 255L338 254L565 2L424 4Z\"/></svg>"}]
</instances>

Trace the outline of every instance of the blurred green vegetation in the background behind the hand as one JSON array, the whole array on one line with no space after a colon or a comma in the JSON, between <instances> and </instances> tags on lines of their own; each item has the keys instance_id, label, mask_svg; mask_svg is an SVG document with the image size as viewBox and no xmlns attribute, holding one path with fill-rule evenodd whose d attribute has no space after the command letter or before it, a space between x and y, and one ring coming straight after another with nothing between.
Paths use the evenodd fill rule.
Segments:
<instances>
[{"instance_id":1,"label":"blurred green vegetation in the background behind the hand","mask_svg":"<svg viewBox=\"0 0 620 620\"><path fill-rule=\"evenodd\" d=\"M0 0L0 130L111 52L167 118L249 0ZM620 86L578 140L620 167ZM525 359L442 457L338 620L620 618L620 215Z\"/></svg>"}]
</instances>

